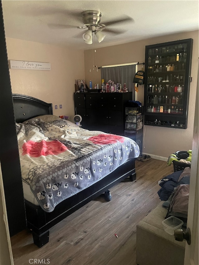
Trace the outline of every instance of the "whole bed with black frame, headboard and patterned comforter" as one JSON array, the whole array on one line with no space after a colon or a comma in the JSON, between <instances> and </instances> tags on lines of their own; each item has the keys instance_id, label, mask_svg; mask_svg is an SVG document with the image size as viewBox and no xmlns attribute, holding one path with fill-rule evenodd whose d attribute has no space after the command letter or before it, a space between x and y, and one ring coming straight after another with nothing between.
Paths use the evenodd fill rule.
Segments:
<instances>
[{"instance_id":1,"label":"whole bed with black frame, headboard and patterned comforter","mask_svg":"<svg viewBox=\"0 0 199 265\"><path fill-rule=\"evenodd\" d=\"M44 116L53 117L52 104L37 98L13 94L13 105L27 227L34 244L42 247L52 226L118 182L136 179L139 147L124 136L84 130L60 119L44 121Z\"/></svg>"}]
</instances>

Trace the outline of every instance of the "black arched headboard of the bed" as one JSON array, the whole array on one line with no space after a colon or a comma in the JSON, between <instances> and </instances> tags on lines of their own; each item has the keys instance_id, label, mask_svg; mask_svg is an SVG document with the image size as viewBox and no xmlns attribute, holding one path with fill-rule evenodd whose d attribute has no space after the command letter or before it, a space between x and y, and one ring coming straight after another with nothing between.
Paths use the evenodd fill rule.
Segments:
<instances>
[{"instance_id":1,"label":"black arched headboard of the bed","mask_svg":"<svg viewBox=\"0 0 199 265\"><path fill-rule=\"evenodd\" d=\"M17 123L39 115L53 114L52 103L21 94L12 94L12 98Z\"/></svg>"}]
</instances>

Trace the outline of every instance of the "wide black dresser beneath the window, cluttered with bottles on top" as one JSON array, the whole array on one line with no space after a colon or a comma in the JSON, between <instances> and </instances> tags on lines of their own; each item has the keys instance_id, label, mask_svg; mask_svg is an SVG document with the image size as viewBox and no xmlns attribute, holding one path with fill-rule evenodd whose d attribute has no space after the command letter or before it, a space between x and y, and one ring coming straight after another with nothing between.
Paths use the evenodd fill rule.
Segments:
<instances>
[{"instance_id":1,"label":"wide black dresser beneath the window, cluttered with bottles on top","mask_svg":"<svg viewBox=\"0 0 199 265\"><path fill-rule=\"evenodd\" d=\"M76 93L75 114L82 117L82 128L124 135L125 107L132 100L132 92L126 93Z\"/></svg>"}]
</instances>

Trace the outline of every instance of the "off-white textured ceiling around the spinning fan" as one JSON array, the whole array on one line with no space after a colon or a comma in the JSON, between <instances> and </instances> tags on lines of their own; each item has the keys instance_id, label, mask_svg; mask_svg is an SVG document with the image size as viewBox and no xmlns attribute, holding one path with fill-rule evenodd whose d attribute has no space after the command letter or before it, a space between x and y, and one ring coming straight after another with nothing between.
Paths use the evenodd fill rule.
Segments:
<instances>
[{"instance_id":1,"label":"off-white textured ceiling around the spinning fan","mask_svg":"<svg viewBox=\"0 0 199 265\"><path fill-rule=\"evenodd\" d=\"M141 39L198 30L198 1L11 1L3 0L6 37L92 49L133 42ZM122 34L106 33L105 39L86 44L82 34L81 12L99 10L101 23L132 18L128 23L107 26ZM94 43L94 41L93 41Z\"/></svg>"}]
</instances>

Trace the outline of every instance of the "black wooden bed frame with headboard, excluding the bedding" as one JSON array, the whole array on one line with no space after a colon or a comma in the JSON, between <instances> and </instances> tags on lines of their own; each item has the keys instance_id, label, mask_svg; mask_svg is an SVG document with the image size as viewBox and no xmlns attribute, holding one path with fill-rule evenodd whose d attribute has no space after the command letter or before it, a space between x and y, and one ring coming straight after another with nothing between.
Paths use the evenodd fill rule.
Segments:
<instances>
[{"instance_id":1,"label":"black wooden bed frame with headboard, excluding the bedding","mask_svg":"<svg viewBox=\"0 0 199 265\"><path fill-rule=\"evenodd\" d=\"M39 115L53 114L51 103L21 94L12 94L12 96L17 123ZM52 226L124 179L136 180L135 158L128 160L85 190L65 199L55 207L53 212L45 212L40 206L25 200L27 226L32 230L34 243L38 247L48 243L49 229Z\"/></svg>"}]
</instances>

